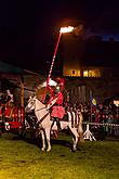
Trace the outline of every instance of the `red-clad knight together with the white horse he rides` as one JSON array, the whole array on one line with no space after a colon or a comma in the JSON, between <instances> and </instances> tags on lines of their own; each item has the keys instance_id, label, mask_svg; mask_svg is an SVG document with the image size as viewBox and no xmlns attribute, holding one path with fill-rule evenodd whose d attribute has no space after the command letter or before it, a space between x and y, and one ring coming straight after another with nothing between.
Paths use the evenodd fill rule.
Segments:
<instances>
[{"instance_id":1,"label":"red-clad knight together with the white horse he rides","mask_svg":"<svg viewBox=\"0 0 119 179\"><path fill-rule=\"evenodd\" d=\"M58 86L60 86L60 82L58 82ZM58 119L62 129L70 130L72 135L72 151L76 151L77 144L78 142L80 142L80 133L82 133L82 128L81 128L82 125L81 123L79 123L79 119L82 118L82 114L79 113L78 115L75 115L77 117L72 118L74 119L74 124L72 124L70 112L67 111L65 113L65 110L63 107L63 100L64 100L63 98L64 91L62 88L63 84L62 86L60 86L61 88L56 89L57 92L53 89L53 87L52 88L51 87L52 86L50 86L49 88L51 89L53 93L50 97L50 100L48 103L43 103L41 100L38 99L37 95L35 95L28 100L28 103L25 107L25 112L29 113L32 110L35 111L35 115L38 122L38 127L37 127L38 133L41 135L41 139L42 139L42 148L41 148L42 151L47 149L47 145L48 145L47 151L51 150L51 141L50 141L51 132L54 132L57 130L57 125L55 122L56 119ZM54 124L51 119L51 116L53 117L53 122L55 122ZM65 116L66 116L66 119L64 120L63 118ZM58 137L58 132L57 132L57 137Z\"/></svg>"}]
</instances>

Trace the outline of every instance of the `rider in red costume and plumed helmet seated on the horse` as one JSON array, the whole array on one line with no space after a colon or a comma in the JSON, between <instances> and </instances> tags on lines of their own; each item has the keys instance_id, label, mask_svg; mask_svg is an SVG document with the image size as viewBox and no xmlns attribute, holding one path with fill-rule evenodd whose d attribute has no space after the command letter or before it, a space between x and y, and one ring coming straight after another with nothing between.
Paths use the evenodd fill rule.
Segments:
<instances>
[{"instance_id":1,"label":"rider in red costume and plumed helmet seated on the horse","mask_svg":"<svg viewBox=\"0 0 119 179\"><path fill-rule=\"evenodd\" d=\"M63 88L64 88L64 79L56 78L56 81L58 82L55 89L49 86L51 98L48 102L48 106L52 106L51 111L51 117L54 122L56 122L57 127L61 129L60 120L64 117L65 110L63 107ZM53 126L52 125L52 126Z\"/></svg>"}]
</instances>

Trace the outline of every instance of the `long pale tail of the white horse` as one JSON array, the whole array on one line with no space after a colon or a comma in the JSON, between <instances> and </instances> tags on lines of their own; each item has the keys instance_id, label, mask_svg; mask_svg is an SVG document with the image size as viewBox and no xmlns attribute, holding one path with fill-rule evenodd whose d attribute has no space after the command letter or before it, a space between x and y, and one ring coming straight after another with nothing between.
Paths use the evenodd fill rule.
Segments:
<instances>
[{"instance_id":1,"label":"long pale tail of the white horse","mask_svg":"<svg viewBox=\"0 0 119 179\"><path fill-rule=\"evenodd\" d=\"M83 122L83 116L81 114L81 112L78 114L78 118L79 118L79 124L78 124L78 145L81 145L82 143L84 143L84 138L83 138L83 129L82 129L82 122Z\"/></svg>"}]
</instances>

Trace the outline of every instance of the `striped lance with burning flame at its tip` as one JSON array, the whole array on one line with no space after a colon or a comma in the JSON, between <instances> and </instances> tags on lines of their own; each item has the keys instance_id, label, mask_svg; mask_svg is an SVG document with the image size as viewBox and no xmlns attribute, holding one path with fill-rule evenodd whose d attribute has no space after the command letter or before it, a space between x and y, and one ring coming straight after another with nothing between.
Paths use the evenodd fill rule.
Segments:
<instances>
[{"instance_id":1,"label":"striped lance with burning flame at its tip","mask_svg":"<svg viewBox=\"0 0 119 179\"><path fill-rule=\"evenodd\" d=\"M45 86L45 90L44 90L44 93L43 93L42 102L43 102L44 99L45 99L45 93L47 93L48 85L49 85L50 77L51 77L51 74L52 74L52 69L53 69L53 65L54 65L54 60L55 60L55 57L56 57L56 52L57 52L57 48L58 48L58 44L60 44L61 36L62 36L62 34L71 33L72 30L74 30L74 27L72 27L72 26L62 27L62 28L60 29L60 35L58 35L57 42L56 42L56 46L55 46L55 49L54 49L54 54L53 54L53 59L52 59L50 72L49 72L49 75L48 75L47 86Z\"/></svg>"}]
</instances>

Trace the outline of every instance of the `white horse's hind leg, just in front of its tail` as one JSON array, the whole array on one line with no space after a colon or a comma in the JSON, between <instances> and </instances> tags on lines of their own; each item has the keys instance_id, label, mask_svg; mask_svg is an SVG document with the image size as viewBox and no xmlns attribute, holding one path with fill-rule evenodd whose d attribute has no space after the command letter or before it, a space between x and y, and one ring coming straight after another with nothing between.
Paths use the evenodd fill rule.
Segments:
<instances>
[{"instance_id":1,"label":"white horse's hind leg, just in front of its tail","mask_svg":"<svg viewBox=\"0 0 119 179\"><path fill-rule=\"evenodd\" d=\"M77 129L75 127L72 128L71 126L69 126L69 129L74 135L74 137L72 137L72 150L76 151L79 135L78 135Z\"/></svg>"}]
</instances>

